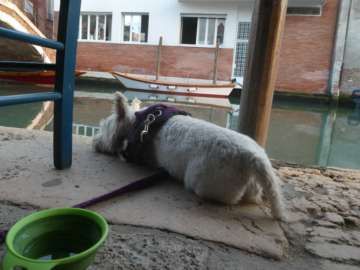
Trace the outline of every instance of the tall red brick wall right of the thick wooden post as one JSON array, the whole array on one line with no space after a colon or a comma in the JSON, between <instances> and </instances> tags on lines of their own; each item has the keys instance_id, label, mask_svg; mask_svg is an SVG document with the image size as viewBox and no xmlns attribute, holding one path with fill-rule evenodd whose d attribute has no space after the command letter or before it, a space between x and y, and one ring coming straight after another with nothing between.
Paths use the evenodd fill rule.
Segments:
<instances>
[{"instance_id":1,"label":"tall red brick wall right of the thick wooden post","mask_svg":"<svg viewBox=\"0 0 360 270\"><path fill-rule=\"evenodd\" d=\"M275 90L327 92L338 3L327 0L321 16L286 16Z\"/></svg>"}]
</instances>

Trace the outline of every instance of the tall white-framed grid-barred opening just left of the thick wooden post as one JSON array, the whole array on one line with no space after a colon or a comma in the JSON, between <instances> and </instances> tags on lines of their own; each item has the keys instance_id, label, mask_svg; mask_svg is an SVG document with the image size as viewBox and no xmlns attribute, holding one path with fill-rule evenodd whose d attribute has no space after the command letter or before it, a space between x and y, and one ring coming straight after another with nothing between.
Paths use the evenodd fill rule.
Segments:
<instances>
[{"instance_id":1,"label":"tall white-framed grid-barred opening just left of the thick wooden post","mask_svg":"<svg viewBox=\"0 0 360 270\"><path fill-rule=\"evenodd\" d=\"M234 50L232 77L244 77L246 54L250 35L250 22L238 22Z\"/></svg>"}]
</instances>

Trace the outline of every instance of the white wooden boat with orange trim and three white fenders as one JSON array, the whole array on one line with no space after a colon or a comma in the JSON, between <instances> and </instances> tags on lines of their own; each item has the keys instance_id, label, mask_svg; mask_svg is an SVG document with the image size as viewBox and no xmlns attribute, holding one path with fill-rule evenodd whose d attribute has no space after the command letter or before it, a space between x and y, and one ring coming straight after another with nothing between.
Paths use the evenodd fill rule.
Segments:
<instances>
[{"instance_id":1,"label":"white wooden boat with orange trim and three white fenders","mask_svg":"<svg viewBox=\"0 0 360 270\"><path fill-rule=\"evenodd\" d=\"M235 87L235 84L185 84L153 81L130 76L130 73L116 71L110 71L110 73L127 89L135 91L224 98L229 96Z\"/></svg>"}]
</instances>

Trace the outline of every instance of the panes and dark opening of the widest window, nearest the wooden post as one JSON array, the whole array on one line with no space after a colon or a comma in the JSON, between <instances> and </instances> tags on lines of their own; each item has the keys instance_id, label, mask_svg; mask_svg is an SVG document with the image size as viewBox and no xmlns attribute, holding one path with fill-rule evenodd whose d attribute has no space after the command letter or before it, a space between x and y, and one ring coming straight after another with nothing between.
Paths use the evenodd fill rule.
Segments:
<instances>
[{"instance_id":1,"label":"panes and dark opening of the widest window, nearest the wooden post","mask_svg":"<svg viewBox=\"0 0 360 270\"><path fill-rule=\"evenodd\" d=\"M180 44L213 47L216 39L220 39L220 45L224 45L225 16L195 16L181 15Z\"/></svg>"}]
</instances>

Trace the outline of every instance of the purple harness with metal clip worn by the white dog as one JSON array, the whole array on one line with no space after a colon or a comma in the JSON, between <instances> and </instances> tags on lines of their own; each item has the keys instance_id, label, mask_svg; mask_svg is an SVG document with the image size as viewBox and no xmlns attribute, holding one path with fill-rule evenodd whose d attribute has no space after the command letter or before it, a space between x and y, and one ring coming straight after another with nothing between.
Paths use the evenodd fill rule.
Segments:
<instances>
[{"instance_id":1,"label":"purple harness with metal clip worn by the white dog","mask_svg":"<svg viewBox=\"0 0 360 270\"><path fill-rule=\"evenodd\" d=\"M180 114L191 116L191 114L166 106L165 104L154 104L144 111L135 112L136 120L132 124L131 131L127 136L120 138L119 153L128 161L136 164L148 162L149 151L149 126L152 130L165 123L171 117Z\"/></svg>"}]
</instances>

